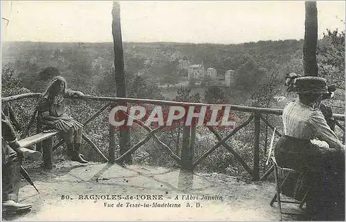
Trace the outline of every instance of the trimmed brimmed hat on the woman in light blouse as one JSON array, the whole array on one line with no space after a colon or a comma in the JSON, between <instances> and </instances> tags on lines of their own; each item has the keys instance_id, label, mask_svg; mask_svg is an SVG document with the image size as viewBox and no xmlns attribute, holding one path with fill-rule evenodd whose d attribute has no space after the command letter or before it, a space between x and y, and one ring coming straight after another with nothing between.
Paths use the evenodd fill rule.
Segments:
<instances>
[{"instance_id":1,"label":"trimmed brimmed hat on the woman in light blouse","mask_svg":"<svg viewBox=\"0 0 346 222\"><path fill-rule=\"evenodd\" d=\"M329 94L327 80L322 77L296 75L289 73L286 76L287 91L298 94Z\"/></svg>"}]
</instances>

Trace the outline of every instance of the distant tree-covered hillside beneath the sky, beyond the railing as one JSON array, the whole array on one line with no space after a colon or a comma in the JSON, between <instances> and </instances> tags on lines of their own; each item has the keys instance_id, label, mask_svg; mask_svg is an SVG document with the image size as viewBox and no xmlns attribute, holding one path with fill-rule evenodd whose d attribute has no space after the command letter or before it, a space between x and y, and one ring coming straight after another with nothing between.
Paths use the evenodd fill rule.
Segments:
<instances>
[{"instance_id":1,"label":"distant tree-covered hillside beneath the sky, beyond the railing","mask_svg":"<svg viewBox=\"0 0 346 222\"><path fill-rule=\"evenodd\" d=\"M124 50L127 75L141 75L156 84L186 80L188 72L180 68L186 61L214 67L220 77L229 69L235 70L235 88L248 92L257 90L273 72L282 79L284 73L302 71L302 40L237 45L125 43ZM113 44L6 42L2 62L14 68L23 86L31 91L42 91L49 75L57 71L73 88L97 90L101 84L104 90L109 89L104 86L113 66ZM57 71L39 74L49 66Z\"/></svg>"}]
</instances>

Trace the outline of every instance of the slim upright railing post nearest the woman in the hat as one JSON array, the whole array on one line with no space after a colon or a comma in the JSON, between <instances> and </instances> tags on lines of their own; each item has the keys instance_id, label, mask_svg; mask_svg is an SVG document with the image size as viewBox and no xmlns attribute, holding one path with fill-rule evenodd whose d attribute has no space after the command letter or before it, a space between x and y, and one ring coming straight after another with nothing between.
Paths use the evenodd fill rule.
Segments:
<instances>
[{"instance_id":1,"label":"slim upright railing post nearest the woman in the hat","mask_svg":"<svg viewBox=\"0 0 346 222\"><path fill-rule=\"evenodd\" d=\"M255 113L255 138L253 141L253 181L260 180L260 131L261 114Z\"/></svg>"}]
</instances>

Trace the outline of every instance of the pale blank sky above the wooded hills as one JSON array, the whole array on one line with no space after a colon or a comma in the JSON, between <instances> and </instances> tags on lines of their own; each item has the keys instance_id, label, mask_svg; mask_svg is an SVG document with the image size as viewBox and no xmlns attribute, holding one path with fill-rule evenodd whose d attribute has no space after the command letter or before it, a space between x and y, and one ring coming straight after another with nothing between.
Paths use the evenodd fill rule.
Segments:
<instances>
[{"instance_id":1,"label":"pale blank sky above the wooded hills","mask_svg":"<svg viewBox=\"0 0 346 222\"><path fill-rule=\"evenodd\" d=\"M12 2L12 6L11 6ZM304 1L119 1L122 41L304 39ZM3 41L105 42L112 1L1 1ZM12 9L11 9L12 8ZM318 37L345 30L345 1L317 1Z\"/></svg>"}]
</instances>

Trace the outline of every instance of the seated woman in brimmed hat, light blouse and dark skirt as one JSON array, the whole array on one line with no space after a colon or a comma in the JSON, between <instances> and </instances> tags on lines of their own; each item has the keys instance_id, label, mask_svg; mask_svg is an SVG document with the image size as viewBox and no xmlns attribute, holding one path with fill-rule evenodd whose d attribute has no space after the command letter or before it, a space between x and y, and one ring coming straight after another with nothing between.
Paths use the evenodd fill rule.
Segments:
<instances>
[{"instance_id":1,"label":"seated woman in brimmed hat, light blouse and dark skirt","mask_svg":"<svg viewBox=\"0 0 346 222\"><path fill-rule=\"evenodd\" d=\"M345 145L338 140L320 111L321 101L330 92L321 77L286 77L287 91L298 93L282 113L284 136L275 145L275 158L281 167L306 173L311 179L307 208L312 219L345 218ZM327 146L314 145L314 140Z\"/></svg>"}]
</instances>

